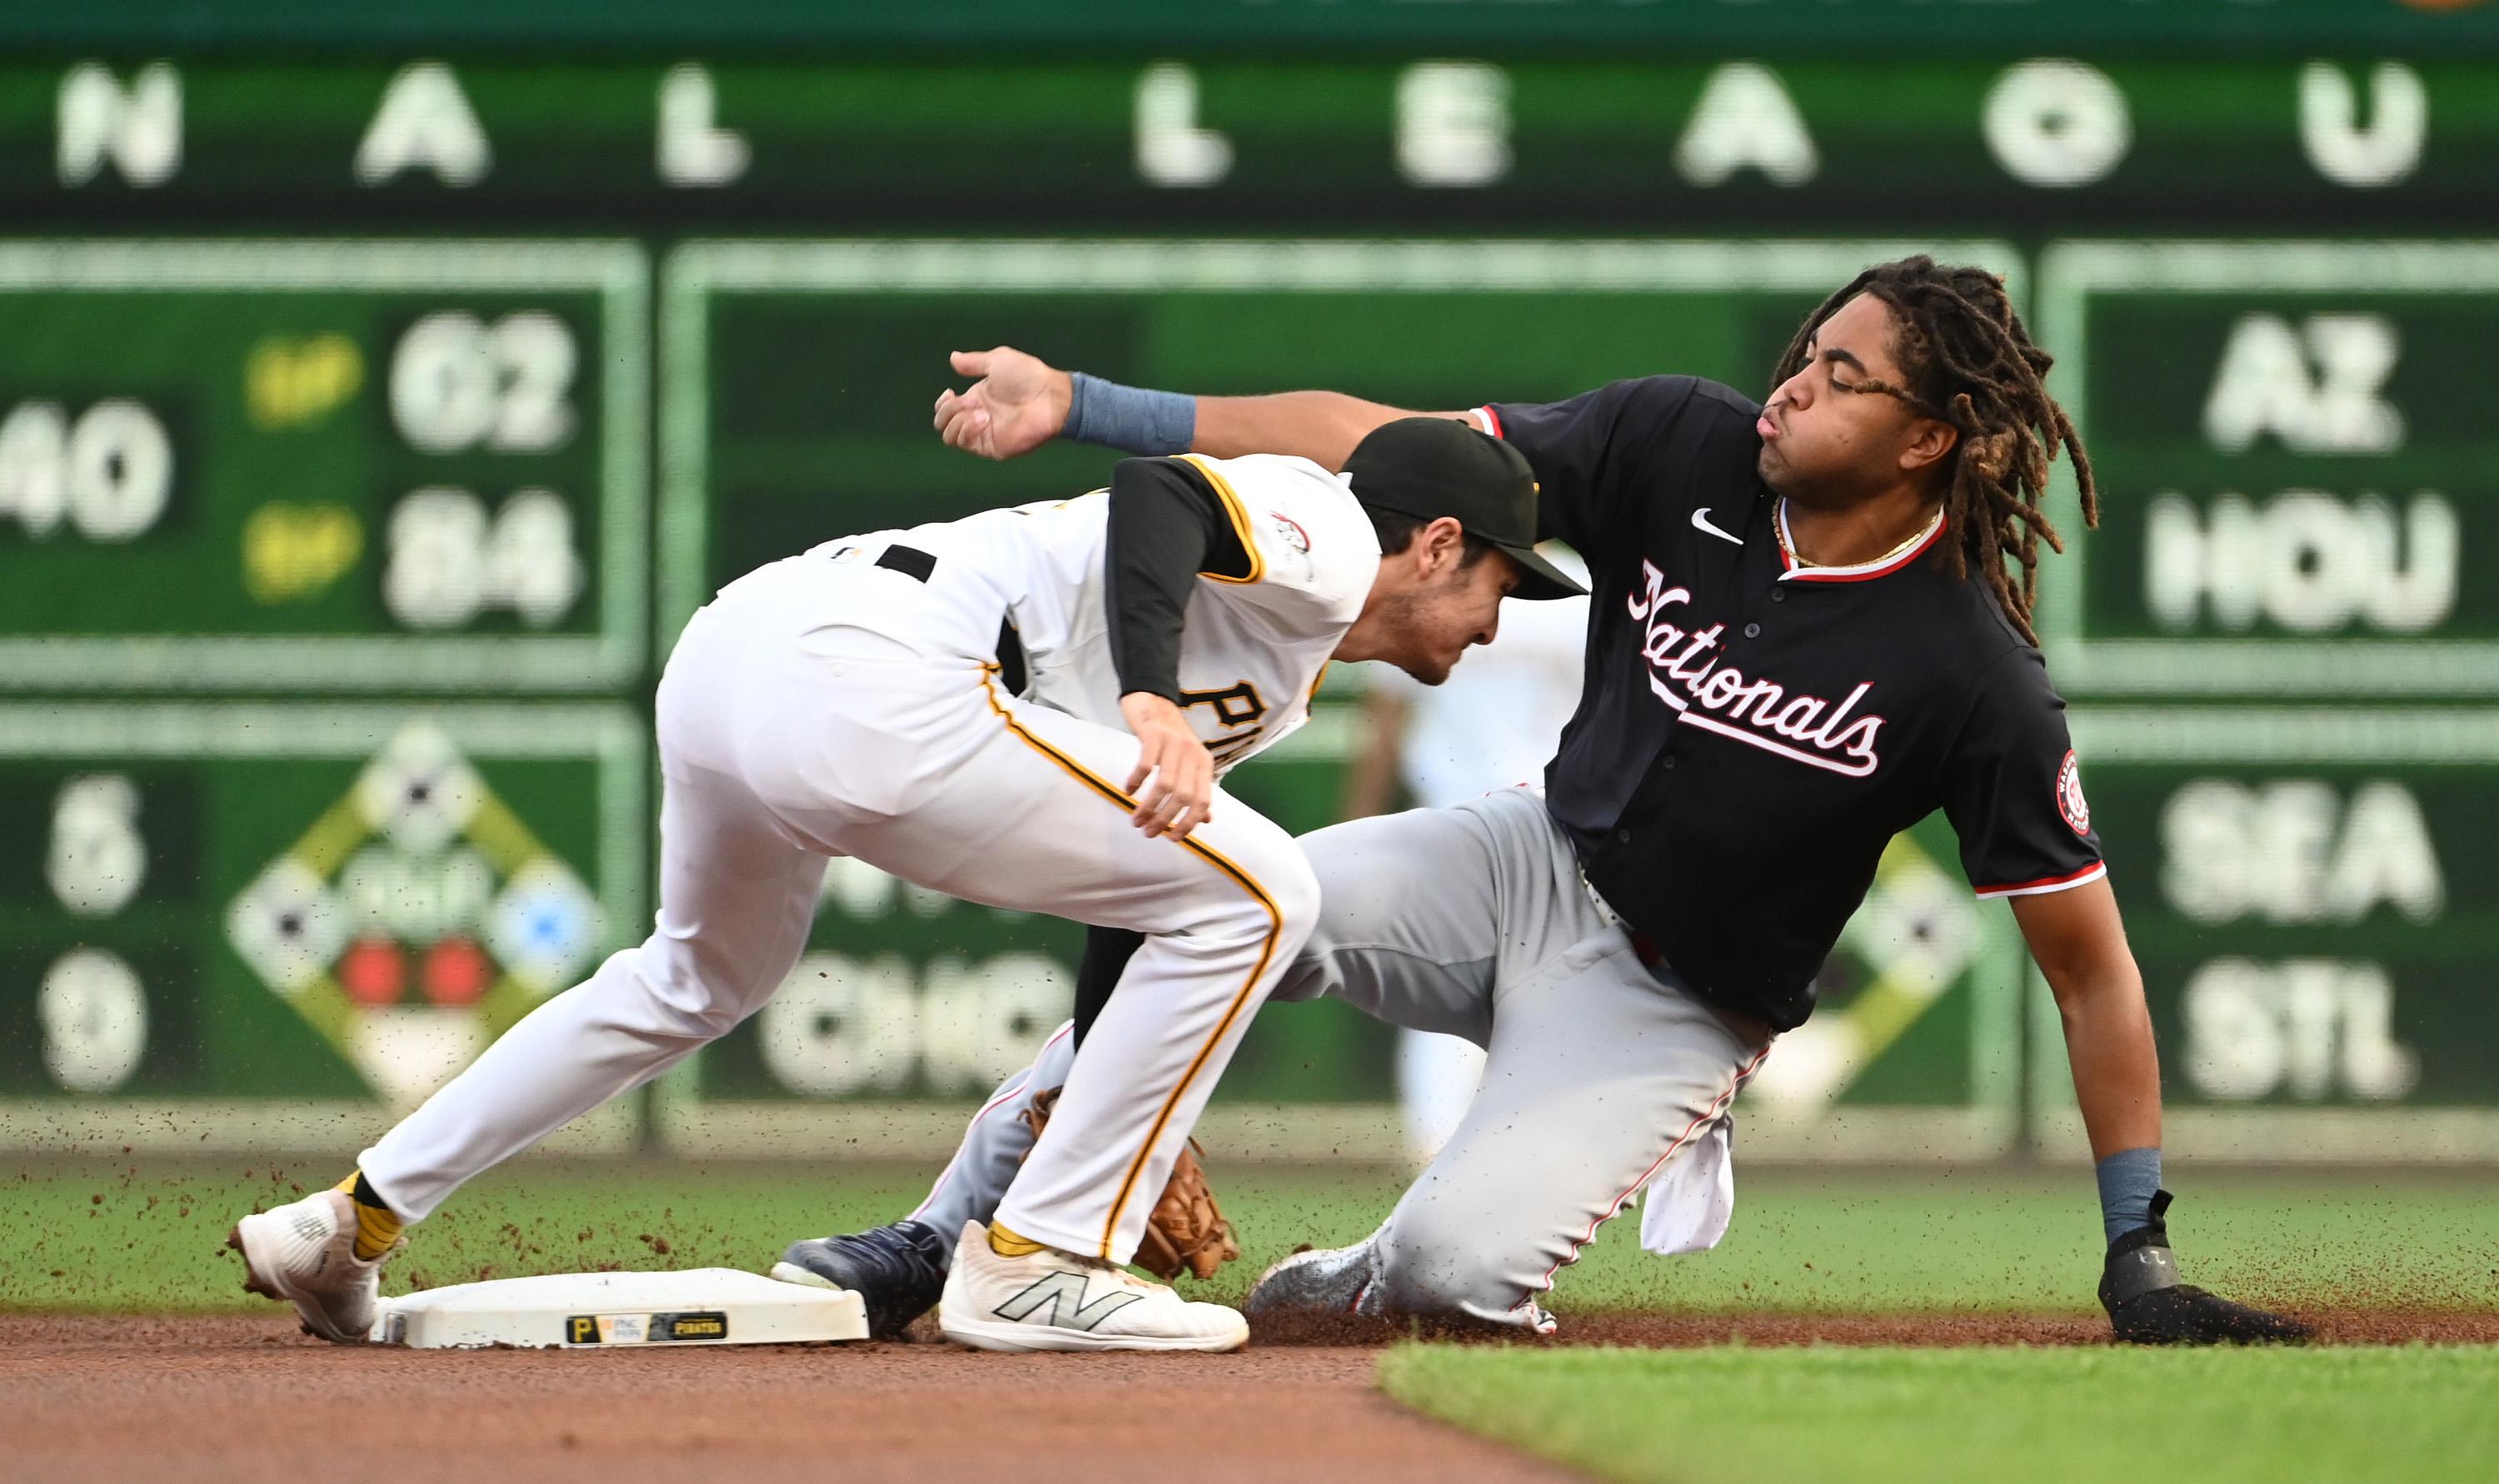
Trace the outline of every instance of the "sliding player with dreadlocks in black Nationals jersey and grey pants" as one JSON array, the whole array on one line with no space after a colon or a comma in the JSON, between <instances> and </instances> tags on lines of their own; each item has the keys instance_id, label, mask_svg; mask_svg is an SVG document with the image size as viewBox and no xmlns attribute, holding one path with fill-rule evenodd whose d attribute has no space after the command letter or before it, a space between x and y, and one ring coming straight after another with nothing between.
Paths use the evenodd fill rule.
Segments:
<instances>
[{"instance_id":1,"label":"sliding player with dreadlocks in black Nationals jersey and grey pants","mask_svg":"<svg viewBox=\"0 0 2499 1484\"><path fill-rule=\"evenodd\" d=\"M937 427L985 457L1117 422L1152 427L1110 435L1137 452L1279 450L1334 467L1407 417L1337 392L1117 387L1005 347L955 365L980 380L940 397ZM1442 415L1524 452L1539 535L1587 557L1579 710L1542 792L1302 839L1319 922L1274 999L1324 994L1454 1032L1487 1067L1387 1222L1269 1269L1252 1314L1549 1329L1554 1274L1642 1187L1654 1204L1677 1159L1712 1147L1774 1037L1812 1014L1814 974L1884 844L1942 809L1977 892L2012 902L2064 1019L2114 1332L2304 1334L2184 1284L2169 1244L2152 1019L2029 627L2039 545L2062 545L2039 510L2057 452L2097 517L2047 370L1994 275L1907 257L1807 317L1767 402L1659 375ZM997 1109L1050 1087L1060 1059L1065 1039ZM1012 1144L995 1112L977 1119L925 1214L985 1209ZM895 1232L792 1259L867 1269Z\"/></svg>"}]
</instances>

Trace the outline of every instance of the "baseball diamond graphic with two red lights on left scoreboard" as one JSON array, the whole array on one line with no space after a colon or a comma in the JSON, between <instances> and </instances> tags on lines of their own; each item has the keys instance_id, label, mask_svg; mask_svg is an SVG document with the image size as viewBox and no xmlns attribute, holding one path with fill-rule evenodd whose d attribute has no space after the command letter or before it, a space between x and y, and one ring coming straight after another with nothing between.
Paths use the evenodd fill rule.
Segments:
<instances>
[{"instance_id":1,"label":"baseball diamond graphic with two red lights on left scoreboard","mask_svg":"<svg viewBox=\"0 0 2499 1484\"><path fill-rule=\"evenodd\" d=\"M605 937L597 899L442 730L402 727L225 912L235 954L412 1107Z\"/></svg>"}]
</instances>

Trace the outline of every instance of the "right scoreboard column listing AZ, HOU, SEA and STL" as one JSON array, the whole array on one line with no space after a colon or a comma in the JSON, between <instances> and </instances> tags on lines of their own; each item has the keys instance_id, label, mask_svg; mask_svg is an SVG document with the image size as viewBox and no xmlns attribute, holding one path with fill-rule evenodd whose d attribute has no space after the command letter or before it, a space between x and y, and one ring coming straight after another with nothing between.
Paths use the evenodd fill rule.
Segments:
<instances>
[{"instance_id":1,"label":"right scoreboard column listing AZ, HOU, SEA and STL","mask_svg":"<svg viewBox=\"0 0 2499 1484\"><path fill-rule=\"evenodd\" d=\"M2499 1157L2499 245L2059 242L2037 320L2102 505L2042 632L2169 1142Z\"/></svg>"}]
</instances>

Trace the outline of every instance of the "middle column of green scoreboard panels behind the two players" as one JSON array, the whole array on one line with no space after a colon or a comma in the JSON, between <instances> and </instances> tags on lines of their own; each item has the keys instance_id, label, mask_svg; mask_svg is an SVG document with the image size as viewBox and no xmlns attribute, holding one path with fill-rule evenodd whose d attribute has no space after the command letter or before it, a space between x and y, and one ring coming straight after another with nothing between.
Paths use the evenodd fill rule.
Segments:
<instances>
[{"instance_id":1,"label":"middle column of green scoreboard panels behind the two players","mask_svg":"<svg viewBox=\"0 0 2499 1484\"><path fill-rule=\"evenodd\" d=\"M660 282L662 635L717 585L807 545L1107 480L1105 450L985 465L942 447L927 405L950 385L952 347L1012 342L1142 385L1327 385L1409 407L1564 397L1659 365L1754 387L1834 282L1904 250L692 242L665 260ZM2019 287L2004 245L1937 250L1999 265ZM1349 747L1347 690L1322 690L1322 720L1230 787L1292 829L1327 824L1337 777L1319 764ZM2012 1144L2009 922L1969 897L1954 862L1942 829L1894 844L1827 974L1824 1012L1749 1099L1747 1147L1902 1157ZM817 957L775 1009L672 1084L670 1137L702 1149L767 1144L812 1127L807 1099L975 1092L1055 1024L1070 997L1057 964L1075 942L1062 924L950 904L845 864L827 882ZM1384 1039L1342 1007L1274 1009L1220 1102L1387 1099ZM825 1117L840 1124L842 1109Z\"/></svg>"}]
</instances>

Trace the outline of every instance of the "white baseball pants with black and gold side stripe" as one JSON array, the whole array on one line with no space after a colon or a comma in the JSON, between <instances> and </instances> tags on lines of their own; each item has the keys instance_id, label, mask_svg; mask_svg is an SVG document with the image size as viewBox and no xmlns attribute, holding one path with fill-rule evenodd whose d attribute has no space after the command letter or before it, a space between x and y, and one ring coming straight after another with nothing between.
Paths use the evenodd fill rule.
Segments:
<instances>
[{"instance_id":1,"label":"white baseball pants with black and gold side stripe","mask_svg":"<svg viewBox=\"0 0 2499 1484\"><path fill-rule=\"evenodd\" d=\"M1227 794L1147 839L1137 740L1002 695L970 572L792 557L732 582L660 680L660 912L640 947L497 1039L362 1157L407 1219L720 1037L780 989L825 859L1145 932L997 1219L1127 1262L1172 1159L1317 919L1292 837Z\"/></svg>"}]
</instances>

